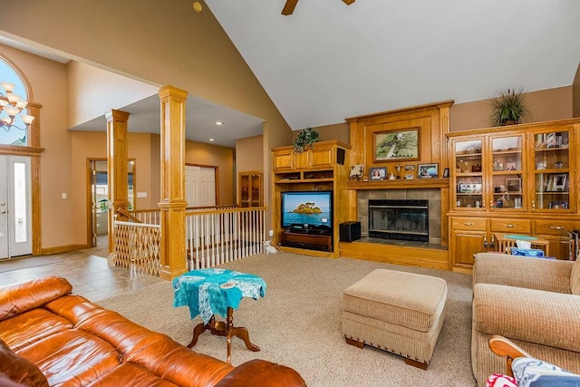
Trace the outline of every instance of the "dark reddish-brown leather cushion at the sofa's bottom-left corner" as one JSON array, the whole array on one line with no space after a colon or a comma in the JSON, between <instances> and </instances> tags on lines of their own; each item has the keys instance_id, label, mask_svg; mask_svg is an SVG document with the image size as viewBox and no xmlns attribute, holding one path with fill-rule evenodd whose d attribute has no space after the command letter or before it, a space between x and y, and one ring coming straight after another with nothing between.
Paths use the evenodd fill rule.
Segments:
<instances>
[{"instance_id":1,"label":"dark reddish-brown leather cushion at the sofa's bottom-left corner","mask_svg":"<svg viewBox=\"0 0 580 387\"><path fill-rule=\"evenodd\" d=\"M37 366L12 352L5 342L0 340L0 373L12 382L27 386L48 386L48 382ZM5 385L0 381L1 385Z\"/></svg>"}]
</instances>

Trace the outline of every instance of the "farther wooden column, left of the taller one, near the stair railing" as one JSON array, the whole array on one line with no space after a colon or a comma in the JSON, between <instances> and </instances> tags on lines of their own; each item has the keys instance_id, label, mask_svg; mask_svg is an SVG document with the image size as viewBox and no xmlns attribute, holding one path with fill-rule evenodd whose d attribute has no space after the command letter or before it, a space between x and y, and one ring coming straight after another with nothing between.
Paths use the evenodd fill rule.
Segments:
<instances>
[{"instance_id":1,"label":"farther wooden column, left of the taller one, near the stair railing","mask_svg":"<svg viewBox=\"0 0 580 387\"><path fill-rule=\"evenodd\" d=\"M127 194L127 121L129 113L115 111L106 114L107 118L107 176L109 178L109 200L112 210L109 210L109 253L115 251L115 239L112 232L113 216L117 208L129 209Z\"/></svg>"}]
</instances>

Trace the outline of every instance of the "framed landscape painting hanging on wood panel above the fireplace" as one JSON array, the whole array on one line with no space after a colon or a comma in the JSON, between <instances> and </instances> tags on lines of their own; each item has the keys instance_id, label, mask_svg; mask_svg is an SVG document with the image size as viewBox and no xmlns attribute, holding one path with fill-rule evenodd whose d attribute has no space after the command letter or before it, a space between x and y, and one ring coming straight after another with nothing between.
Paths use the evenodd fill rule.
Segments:
<instances>
[{"instance_id":1,"label":"framed landscape painting hanging on wood panel above the fireplace","mask_svg":"<svg viewBox=\"0 0 580 387\"><path fill-rule=\"evenodd\" d=\"M419 160L420 128L373 133L374 161Z\"/></svg>"}]
</instances>

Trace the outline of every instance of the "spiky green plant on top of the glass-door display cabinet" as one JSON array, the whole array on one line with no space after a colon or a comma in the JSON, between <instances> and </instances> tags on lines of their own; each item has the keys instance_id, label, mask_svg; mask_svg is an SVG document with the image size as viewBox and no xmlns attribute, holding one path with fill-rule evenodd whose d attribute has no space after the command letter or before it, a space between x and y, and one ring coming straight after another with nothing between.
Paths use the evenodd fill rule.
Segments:
<instances>
[{"instance_id":1,"label":"spiky green plant on top of the glass-door display cabinet","mask_svg":"<svg viewBox=\"0 0 580 387\"><path fill-rule=\"evenodd\" d=\"M520 123L530 113L523 89L507 89L507 92L492 98L491 109L489 120L493 126Z\"/></svg>"}]
</instances>

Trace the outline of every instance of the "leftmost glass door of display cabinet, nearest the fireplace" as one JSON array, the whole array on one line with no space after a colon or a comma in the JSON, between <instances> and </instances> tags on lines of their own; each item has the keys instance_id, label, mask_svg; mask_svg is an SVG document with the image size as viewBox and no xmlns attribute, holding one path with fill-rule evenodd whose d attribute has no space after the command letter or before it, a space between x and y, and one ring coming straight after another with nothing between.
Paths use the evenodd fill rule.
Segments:
<instances>
[{"instance_id":1,"label":"leftmost glass door of display cabinet, nearest the fireplace","mask_svg":"<svg viewBox=\"0 0 580 387\"><path fill-rule=\"evenodd\" d=\"M454 142L455 150L455 209L481 208L483 203L482 140Z\"/></svg>"}]
</instances>

